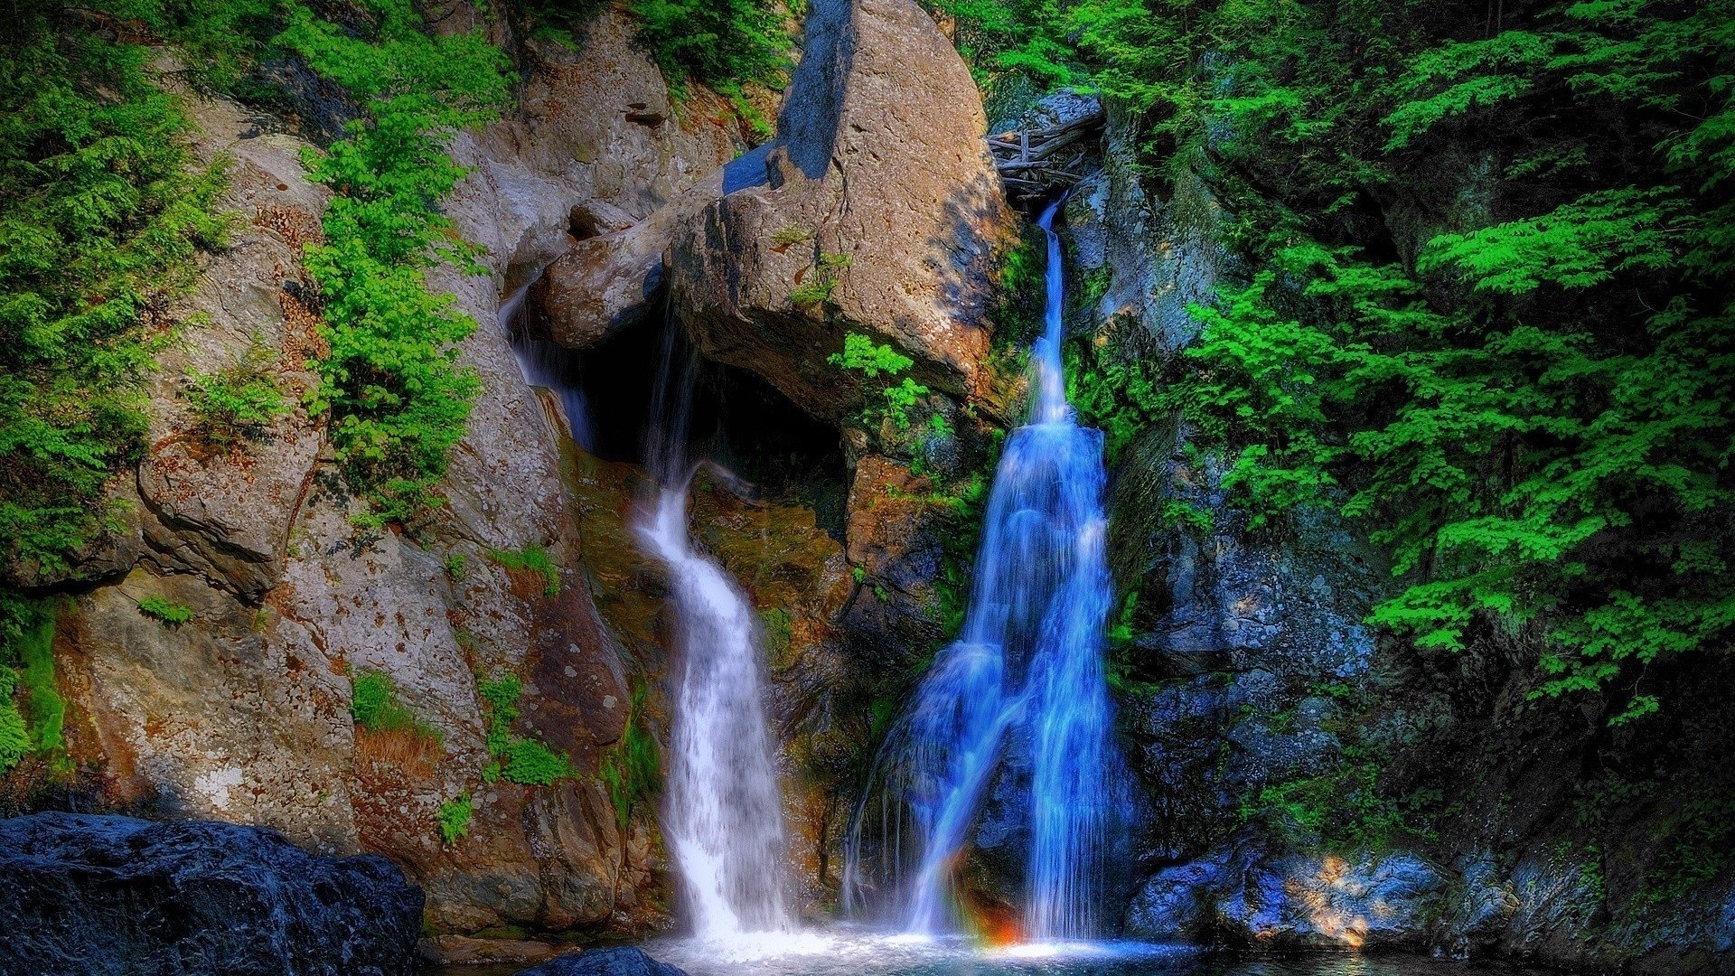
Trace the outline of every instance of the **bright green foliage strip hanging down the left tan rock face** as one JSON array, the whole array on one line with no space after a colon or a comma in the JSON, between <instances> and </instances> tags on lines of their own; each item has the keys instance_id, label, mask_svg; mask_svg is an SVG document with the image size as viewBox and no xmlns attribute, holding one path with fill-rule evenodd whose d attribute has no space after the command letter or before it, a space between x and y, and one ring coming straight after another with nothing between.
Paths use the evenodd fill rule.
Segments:
<instances>
[{"instance_id":1,"label":"bright green foliage strip hanging down the left tan rock face","mask_svg":"<svg viewBox=\"0 0 1735 976\"><path fill-rule=\"evenodd\" d=\"M441 200L465 175L446 155L453 129L508 104L505 56L479 31L435 36L408 0L370 0L357 33L290 7L278 43L368 106L345 137L307 160L337 196L326 243L304 254L319 288L330 354L309 408L330 410L330 438L350 485L371 502L363 524L437 504L446 453L463 438L477 394L458 344L475 321L423 280L437 260L479 271Z\"/></svg>"}]
</instances>

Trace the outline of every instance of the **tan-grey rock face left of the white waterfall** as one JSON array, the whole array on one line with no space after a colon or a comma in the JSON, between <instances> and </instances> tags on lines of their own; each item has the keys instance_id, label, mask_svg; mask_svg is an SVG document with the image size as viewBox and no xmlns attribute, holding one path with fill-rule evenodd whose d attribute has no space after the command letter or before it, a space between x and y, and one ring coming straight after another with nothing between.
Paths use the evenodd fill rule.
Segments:
<instances>
[{"instance_id":1,"label":"tan-grey rock face left of the white waterfall","mask_svg":"<svg viewBox=\"0 0 1735 976\"><path fill-rule=\"evenodd\" d=\"M224 205L239 228L180 309L203 316L151 391L153 443L121 486L132 521L80 566L99 585L59 620L68 748L104 802L385 853L423 886L442 933L659 924L651 811L621 821L597 775L626 726L621 644L579 573L555 431L496 326L501 293L574 231L654 214L739 148L715 96L697 92L675 118L630 36L626 14L606 10L579 50L526 42L524 115L453 141L472 175L444 212L486 248L486 273L434 269L429 283L481 325L462 359L482 394L446 505L406 531L356 530L319 419L295 412L226 450L193 436L191 370L250 363L291 403L311 382L319 323L298 252L319 240L326 191L305 179L302 139L184 92L198 149L234 158ZM531 549L559 587L503 564ZM153 596L194 618L144 617ZM357 728L364 672L389 677L423 731ZM508 674L522 684L510 735L567 755L576 778L484 776L479 684ZM439 811L463 797L468 832L444 844Z\"/></svg>"}]
</instances>

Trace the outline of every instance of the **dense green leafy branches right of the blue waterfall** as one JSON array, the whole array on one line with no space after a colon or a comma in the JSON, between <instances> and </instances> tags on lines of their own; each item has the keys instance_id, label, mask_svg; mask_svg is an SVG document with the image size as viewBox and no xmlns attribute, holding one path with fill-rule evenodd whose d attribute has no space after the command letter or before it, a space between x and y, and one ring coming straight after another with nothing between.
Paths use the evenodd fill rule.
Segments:
<instances>
[{"instance_id":1,"label":"dense green leafy branches right of the blue waterfall","mask_svg":"<svg viewBox=\"0 0 1735 976\"><path fill-rule=\"evenodd\" d=\"M1390 551L1376 623L1504 634L1535 695L1631 722L1647 669L1735 637L1735 3L1480 38L1461 7L946 5L994 80L1088 75L1147 179L1190 167L1234 214L1253 271L1194 309L1190 368L1069 346L1110 455L1182 412L1251 530L1331 509Z\"/></svg>"}]
</instances>

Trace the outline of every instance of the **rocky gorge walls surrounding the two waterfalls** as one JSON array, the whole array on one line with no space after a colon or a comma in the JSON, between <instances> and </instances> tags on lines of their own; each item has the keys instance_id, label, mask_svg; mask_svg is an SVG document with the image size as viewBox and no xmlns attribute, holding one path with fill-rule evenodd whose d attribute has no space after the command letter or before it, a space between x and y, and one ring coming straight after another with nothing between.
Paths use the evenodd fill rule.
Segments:
<instances>
[{"instance_id":1,"label":"rocky gorge walls surrounding the two waterfalls","mask_svg":"<svg viewBox=\"0 0 1735 976\"><path fill-rule=\"evenodd\" d=\"M99 24L147 50L189 165L226 167L231 231L160 313L174 340L142 386L142 448L102 485L113 518L59 563L0 566L43 620L7 636L42 648L21 674L49 669L21 714L49 691L64 712L0 781L0 919L31 933L0 960L409 973L418 941L533 964L678 931L659 827L675 584L635 537L677 339L708 458L691 538L756 615L796 913L836 919L876 755L958 637L1031 401L1039 234L984 135L1102 115L1055 224L1067 398L1109 465L1129 813L1098 934L1735 973L1726 676L1659 665L1673 710L1641 740L1608 702L1535 693L1529 623L1476 630L1473 653L1381 627L1405 578L1379 530L1298 509L1272 531L1223 439L1126 392L1204 373L1197 309L1268 274L1239 247L1225 132L1157 170L1149 111L1114 92L1032 90L989 118L968 23L913 0L777 7L781 94L671 76L632 3L415 10L514 83L498 118L449 135L463 175L437 210L475 247L425 273L479 323L453 346L474 406L439 504L383 523L347 479L342 419L309 396L333 333L307 248L344 207L314 160L368 102L293 56L260 71L269 99L215 90L163 31ZM1501 207L1476 160L1437 165L1433 195L1352 207L1411 267ZM193 392L241 365L288 406L213 443ZM984 931L1015 927L1015 806L985 808L956 867ZM184 929L153 931L149 905L189 898ZM602 966L533 973L586 955Z\"/></svg>"}]
</instances>

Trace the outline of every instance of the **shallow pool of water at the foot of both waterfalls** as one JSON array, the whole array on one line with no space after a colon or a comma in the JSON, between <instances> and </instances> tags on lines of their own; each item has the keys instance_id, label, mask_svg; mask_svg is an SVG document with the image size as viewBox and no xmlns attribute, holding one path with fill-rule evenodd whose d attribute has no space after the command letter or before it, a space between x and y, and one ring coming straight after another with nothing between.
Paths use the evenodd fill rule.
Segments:
<instances>
[{"instance_id":1,"label":"shallow pool of water at the foot of both waterfalls","mask_svg":"<svg viewBox=\"0 0 1735 976\"><path fill-rule=\"evenodd\" d=\"M1192 946L1136 941L968 941L828 929L729 941L656 940L644 950L691 976L1529 976L1504 966L1466 966L1417 955L1320 953L1239 960ZM503 969L444 969L441 976L496 976Z\"/></svg>"}]
</instances>

